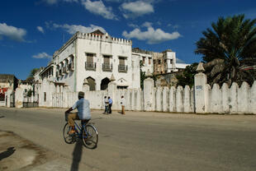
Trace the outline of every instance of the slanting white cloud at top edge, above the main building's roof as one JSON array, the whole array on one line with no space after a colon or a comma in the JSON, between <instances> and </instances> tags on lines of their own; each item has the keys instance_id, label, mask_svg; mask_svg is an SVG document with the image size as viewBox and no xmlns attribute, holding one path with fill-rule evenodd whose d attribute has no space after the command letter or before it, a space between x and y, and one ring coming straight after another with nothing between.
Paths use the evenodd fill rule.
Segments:
<instances>
[{"instance_id":1,"label":"slanting white cloud at top edge, above the main building's roof","mask_svg":"<svg viewBox=\"0 0 256 171\"><path fill-rule=\"evenodd\" d=\"M83 7L85 7L89 12L93 14L103 16L106 19L117 20L116 15L112 12L111 7L106 7L102 0L99 1L90 1L90 0L81 0Z\"/></svg>"}]
</instances>

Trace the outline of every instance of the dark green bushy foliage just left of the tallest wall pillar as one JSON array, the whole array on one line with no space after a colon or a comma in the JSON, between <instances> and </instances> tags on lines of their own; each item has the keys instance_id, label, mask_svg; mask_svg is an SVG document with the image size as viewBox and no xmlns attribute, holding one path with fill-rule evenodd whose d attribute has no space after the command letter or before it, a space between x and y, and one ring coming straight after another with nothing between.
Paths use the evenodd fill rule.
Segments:
<instances>
[{"instance_id":1,"label":"dark green bushy foliage just left of the tallest wall pillar","mask_svg":"<svg viewBox=\"0 0 256 171\"><path fill-rule=\"evenodd\" d=\"M194 85L194 76L197 74L197 65L198 63L192 63L190 66L187 66L181 75L176 76L178 79L177 85L189 85L192 87Z\"/></svg>"}]
</instances>

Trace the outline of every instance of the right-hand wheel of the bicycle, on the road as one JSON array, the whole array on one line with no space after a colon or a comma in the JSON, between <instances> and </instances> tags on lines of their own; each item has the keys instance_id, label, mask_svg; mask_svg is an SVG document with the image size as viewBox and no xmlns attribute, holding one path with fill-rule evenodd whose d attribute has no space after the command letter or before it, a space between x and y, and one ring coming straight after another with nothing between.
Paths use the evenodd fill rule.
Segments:
<instances>
[{"instance_id":1,"label":"right-hand wheel of the bicycle, on the road","mask_svg":"<svg viewBox=\"0 0 256 171\"><path fill-rule=\"evenodd\" d=\"M97 147L98 135L97 130L93 125L86 125L83 130L83 145L89 149Z\"/></svg>"}]
</instances>

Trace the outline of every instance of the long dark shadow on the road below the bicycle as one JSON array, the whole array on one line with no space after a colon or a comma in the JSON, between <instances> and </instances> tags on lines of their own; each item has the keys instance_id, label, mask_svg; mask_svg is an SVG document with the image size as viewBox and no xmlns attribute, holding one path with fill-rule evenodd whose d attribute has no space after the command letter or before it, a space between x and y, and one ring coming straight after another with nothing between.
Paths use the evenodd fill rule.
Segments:
<instances>
[{"instance_id":1,"label":"long dark shadow on the road below the bicycle","mask_svg":"<svg viewBox=\"0 0 256 171\"><path fill-rule=\"evenodd\" d=\"M78 138L76 145L73 149L73 162L71 165L70 171L77 171L79 168L79 163L82 158L82 152L83 152L83 141L82 139Z\"/></svg>"}]
</instances>

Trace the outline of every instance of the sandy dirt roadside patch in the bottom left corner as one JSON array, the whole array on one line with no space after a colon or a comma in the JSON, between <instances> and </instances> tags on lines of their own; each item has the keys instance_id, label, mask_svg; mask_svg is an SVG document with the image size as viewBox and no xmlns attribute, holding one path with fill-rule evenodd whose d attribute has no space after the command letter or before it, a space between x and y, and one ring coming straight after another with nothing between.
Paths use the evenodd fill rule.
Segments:
<instances>
[{"instance_id":1,"label":"sandy dirt roadside patch in the bottom left corner","mask_svg":"<svg viewBox=\"0 0 256 171\"><path fill-rule=\"evenodd\" d=\"M13 132L0 130L0 171L70 170L69 161Z\"/></svg>"}]
</instances>

